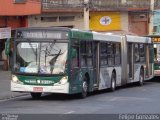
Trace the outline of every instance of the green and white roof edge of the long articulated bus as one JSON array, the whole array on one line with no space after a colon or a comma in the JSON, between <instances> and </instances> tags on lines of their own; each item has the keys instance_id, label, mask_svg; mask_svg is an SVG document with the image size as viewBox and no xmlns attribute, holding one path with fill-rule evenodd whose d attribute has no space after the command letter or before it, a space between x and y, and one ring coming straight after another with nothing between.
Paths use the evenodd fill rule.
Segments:
<instances>
[{"instance_id":1,"label":"green and white roof edge of the long articulated bus","mask_svg":"<svg viewBox=\"0 0 160 120\"><path fill-rule=\"evenodd\" d=\"M85 31L79 30L75 28L67 28L67 27L28 27L28 28L17 28L18 31L26 31L26 30L59 30L71 32L71 37L76 39L86 39L86 40L94 40L94 41L110 41L110 42L121 42L122 37L125 36L123 34L114 34L114 33L99 33L94 31ZM150 35L155 36L155 35ZM160 35L159 35L160 36ZM151 43L151 38L140 37L135 35L126 35L128 42L137 42L137 43Z\"/></svg>"}]
</instances>

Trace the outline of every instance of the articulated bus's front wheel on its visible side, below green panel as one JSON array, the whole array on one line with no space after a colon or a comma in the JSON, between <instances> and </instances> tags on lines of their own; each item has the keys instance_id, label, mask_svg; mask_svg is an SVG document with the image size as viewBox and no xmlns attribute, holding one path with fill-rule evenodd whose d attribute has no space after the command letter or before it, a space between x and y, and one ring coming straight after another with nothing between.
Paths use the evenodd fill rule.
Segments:
<instances>
[{"instance_id":1,"label":"articulated bus's front wheel on its visible side, below green panel","mask_svg":"<svg viewBox=\"0 0 160 120\"><path fill-rule=\"evenodd\" d=\"M88 82L86 79L84 79L82 84L82 92L80 93L80 98L87 97L87 92L88 92Z\"/></svg>"}]
</instances>

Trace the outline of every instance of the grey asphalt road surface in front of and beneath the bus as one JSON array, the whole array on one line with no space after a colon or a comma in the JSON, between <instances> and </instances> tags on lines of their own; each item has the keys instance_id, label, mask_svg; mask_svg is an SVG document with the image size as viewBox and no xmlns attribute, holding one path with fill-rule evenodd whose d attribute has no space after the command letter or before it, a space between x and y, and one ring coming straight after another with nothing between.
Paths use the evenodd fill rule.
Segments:
<instances>
[{"instance_id":1,"label":"grey asphalt road surface in front of and beneath the bus","mask_svg":"<svg viewBox=\"0 0 160 120\"><path fill-rule=\"evenodd\" d=\"M101 91L86 99L75 95L44 95L32 100L30 95L0 101L0 113L13 114L123 114L159 113L160 82L149 81L143 87L127 85L114 93Z\"/></svg>"}]
</instances>

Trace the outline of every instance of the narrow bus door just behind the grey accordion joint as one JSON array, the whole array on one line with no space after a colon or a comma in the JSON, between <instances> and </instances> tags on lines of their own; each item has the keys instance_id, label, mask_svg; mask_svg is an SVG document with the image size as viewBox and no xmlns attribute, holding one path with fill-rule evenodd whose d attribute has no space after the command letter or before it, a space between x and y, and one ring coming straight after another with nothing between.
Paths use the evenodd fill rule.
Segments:
<instances>
[{"instance_id":1,"label":"narrow bus door just behind the grey accordion joint","mask_svg":"<svg viewBox=\"0 0 160 120\"><path fill-rule=\"evenodd\" d=\"M134 60L133 60L133 44L128 43L128 77L129 79L134 78Z\"/></svg>"}]
</instances>

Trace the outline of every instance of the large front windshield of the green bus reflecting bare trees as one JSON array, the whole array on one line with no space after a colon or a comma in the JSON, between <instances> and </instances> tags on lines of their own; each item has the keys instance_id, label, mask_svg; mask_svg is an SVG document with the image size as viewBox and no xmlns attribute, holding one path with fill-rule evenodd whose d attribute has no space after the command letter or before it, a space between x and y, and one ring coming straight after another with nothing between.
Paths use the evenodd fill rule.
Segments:
<instances>
[{"instance_id":1,"label":"large front windshield of the green bus reflecting bare trees","mask_svg":"<svg viewBox=\"0 0 160 120\"><path fill-rule=\"evenodd\" d=\"M68 43L17 42L14 71L35 74L65 73Z\"/></svg>"}]
</instances>

